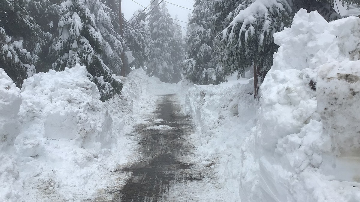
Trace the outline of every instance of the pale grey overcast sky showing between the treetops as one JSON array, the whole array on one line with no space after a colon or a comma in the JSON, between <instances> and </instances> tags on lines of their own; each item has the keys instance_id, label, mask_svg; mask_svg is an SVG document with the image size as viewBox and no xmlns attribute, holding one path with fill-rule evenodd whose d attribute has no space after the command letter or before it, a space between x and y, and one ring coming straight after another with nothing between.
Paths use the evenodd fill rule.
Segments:
<instances>
[{"instance_id":1,"label":"pale grey overcast sky showing between the treetops","mask_svg":"<svg viewBox=\"0 0 360 202\"><path fill-rule=\"evenodd\" d=\"M148 6L150 4L150 2L152 0L134 0L137 3L139 3L140 5L143 5L144 7ZM144 9L144 7L141 7L140 5L136 4L134 1L132 0L122 0L122 12L125 15L125 19L126 20L130 20L130 18L132 17L132 14L134 13L135 10L138 10L139 8L141 10ZM189 8L189 9L193 9L193 5L194 5L194 0L165 0L169 3L166 3L166 7L171 15L172 18L175 18L175 15L177 15L177 19L184 21L184 22L188 22L188 14L192 13L191 10L188 9L184 9L184 8L179 8L178 6L172 5L170 3L179 5L179 6L183 6L185 8ZM148 11L147 11L148 12ZM183 22L179 22L180 26L186 27L187 24L183 23ZM184 29L183 33L185 32ZM185 33L184 33L185 35Z\"/></svg>"}]
</instances>

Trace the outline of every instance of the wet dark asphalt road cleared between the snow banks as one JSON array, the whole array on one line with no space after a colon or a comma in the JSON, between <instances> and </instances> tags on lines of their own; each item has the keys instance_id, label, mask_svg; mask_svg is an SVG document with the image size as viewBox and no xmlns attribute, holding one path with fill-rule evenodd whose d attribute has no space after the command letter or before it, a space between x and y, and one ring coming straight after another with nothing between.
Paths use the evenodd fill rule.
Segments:
<instances>
[{"instance_id":1,"label":"wet dark asphalt road cleared between the snow banks","mask_svg":"<svg viewBox=\"0 0 360 202\"><path fill-rule=\"evenodd\" d=\"M132 172L132 175L122 189L113 193L114 202L167 201L172 183L201 180L201 177L187 174L192 164L178 160L180 155L192 151L183 141L194 131L191 118L180 113L180 106L176 105L172 94L160 97L156 113L157 117L147 124L137 125L134 130L141 137L142 158L140 162L120 169ZM154 122L156 119L162 121ZM151 128L157 125L168 125L169 129Z\"/></svg>"}]
</instances>

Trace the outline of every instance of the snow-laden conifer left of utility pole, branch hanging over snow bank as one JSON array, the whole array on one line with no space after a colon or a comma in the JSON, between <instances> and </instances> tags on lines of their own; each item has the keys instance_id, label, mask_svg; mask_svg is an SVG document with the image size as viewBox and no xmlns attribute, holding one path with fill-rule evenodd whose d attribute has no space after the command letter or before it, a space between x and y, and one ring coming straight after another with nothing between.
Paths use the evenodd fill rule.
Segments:
<instances>
[{"instance_id":1,"label":"snow-laden conifer left of utility pole, branch hanging over snow bank","mask_svg":"<svg viewBox=\"0 0 360 202\"><path fill-rule=\"evenodd\" d=\"M58 55L53 68L86 65L102 101L120 94L122 83L112 73L120 74L123 39L112 25L111 8L100 0L67 0L59 10L59 35L50 49Z\"/></svg>"}]
</instances>

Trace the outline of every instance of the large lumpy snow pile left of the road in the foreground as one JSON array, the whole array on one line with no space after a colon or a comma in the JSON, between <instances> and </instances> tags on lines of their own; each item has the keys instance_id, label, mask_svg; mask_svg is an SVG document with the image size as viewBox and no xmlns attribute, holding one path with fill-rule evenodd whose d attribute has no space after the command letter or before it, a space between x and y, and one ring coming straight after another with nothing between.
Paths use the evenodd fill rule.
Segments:
<instances>
[{"instance_id":1,"label":"large lumpy snow pile left of the road in the foreground","mask_svg":"<svg viewBox=\"0 0 360 202\"><path fill-rule=\"evenodd\" d=\"M1 133L8 146L0 153L0 200L36 201L39 194L50 201L75 200L93 192L105 170L100 162L116 141L111 116L86 68L35 74L21 93L6 77L1 70L1 86L7 86L1 90L7 99L1 102L1 119L8 119ZM18 131L6 129L10 121Z\"/></svg>"}]
</instances>

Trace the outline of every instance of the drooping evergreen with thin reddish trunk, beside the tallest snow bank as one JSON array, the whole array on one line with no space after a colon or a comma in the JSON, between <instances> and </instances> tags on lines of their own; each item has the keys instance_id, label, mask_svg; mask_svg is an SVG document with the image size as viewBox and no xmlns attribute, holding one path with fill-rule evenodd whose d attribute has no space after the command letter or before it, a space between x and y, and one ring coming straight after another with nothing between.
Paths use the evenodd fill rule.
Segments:
<instances>
[{"instance_id":1,"label":"drooping evergreen with thin reddish trunk, beside the tallest snow bank","mask_svg":"<svg viewBox=\"0 0 360 202\"><path fill-rule=\"evenodd\" d=\"M253 66L256 78L254 96L258 100L258 86L273 64L273 54L278 49L273 34L290 26L294 14L300 8L318 10L327 20L339 18L329 6L330 1L243 0L228 15L229 26L217 37L216 52L225 67L225 74L239 71L240 75L246 68Z\"/></svg>"}]
</instances>

